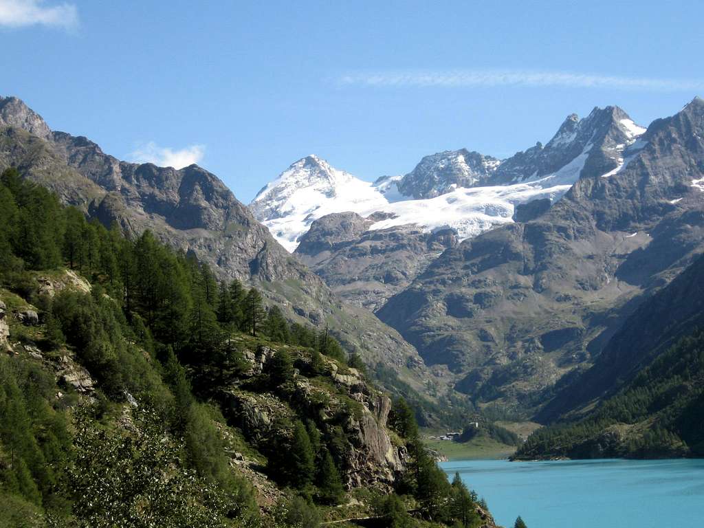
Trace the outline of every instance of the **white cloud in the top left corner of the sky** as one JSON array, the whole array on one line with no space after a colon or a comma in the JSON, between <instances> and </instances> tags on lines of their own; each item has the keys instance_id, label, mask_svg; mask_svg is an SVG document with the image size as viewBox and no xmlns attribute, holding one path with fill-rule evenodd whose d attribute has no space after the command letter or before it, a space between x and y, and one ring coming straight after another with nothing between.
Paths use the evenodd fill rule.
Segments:
<instances>
[{"instance_id":1,"label":"white cloud in the top left corner of the sky","mask_svg":"<svg viewBox=\"0 0 704 528\"><path fill-rule=\"evenodd\" d=\"M46 25L71 30L78 25L74 4L45 5L44 0L0 0L0 26Z\"/></svg>"}]
</instances>

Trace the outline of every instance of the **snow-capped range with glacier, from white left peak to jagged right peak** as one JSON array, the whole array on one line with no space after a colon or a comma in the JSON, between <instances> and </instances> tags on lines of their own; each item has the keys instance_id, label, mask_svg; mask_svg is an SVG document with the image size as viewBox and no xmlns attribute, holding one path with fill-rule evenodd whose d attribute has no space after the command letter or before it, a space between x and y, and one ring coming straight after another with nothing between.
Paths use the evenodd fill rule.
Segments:
<instances>
[{"instance_id":1,"label":"snow-capped range with glacier, from white left peak to jagged right peak","mask_svg":"<svg viewBox=\"0 0 704 528\"><path fill-rule=\"evenodd\" d=\"M367 218L368 230L450 228L460 240L513 222L519 203L560 198L579 177L609 175L645 131L617 107L570 115L553 139L499 161L466 149L425 156L405 176L370 183L306 156L257 194L250 208L289 251L311 223L331 213Z\"/></svg>"}]
</instances>

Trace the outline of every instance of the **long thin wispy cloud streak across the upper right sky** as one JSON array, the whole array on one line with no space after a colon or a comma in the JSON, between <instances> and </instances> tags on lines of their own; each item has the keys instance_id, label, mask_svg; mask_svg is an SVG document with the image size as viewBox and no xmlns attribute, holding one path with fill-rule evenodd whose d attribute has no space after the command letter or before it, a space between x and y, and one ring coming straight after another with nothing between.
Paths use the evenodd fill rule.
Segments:
<instances>
[{"instance_id":1,"label":"long thin wispy cloud streak across the upper right sky","mask_svg":"<svg viewBox=\"0 0 704 528\"><path fill-rule=\"evenodd\" d=\"M704 88L704 79L655 79L530 70L404 70L353 72L337 77L338 84L370 87L572 87L687 92Z\"/></svg>"}]
</instances>

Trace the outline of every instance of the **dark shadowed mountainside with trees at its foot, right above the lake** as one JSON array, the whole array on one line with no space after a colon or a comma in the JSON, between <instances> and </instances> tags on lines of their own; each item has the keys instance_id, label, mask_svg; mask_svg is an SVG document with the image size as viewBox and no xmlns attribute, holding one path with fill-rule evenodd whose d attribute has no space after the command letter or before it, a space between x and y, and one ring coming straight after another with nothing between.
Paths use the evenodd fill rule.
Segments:
<instances>
[{"instance_id":1,"label":"dark shadowed mountainside with trees at its foot, right above the lake","mask_svg":"<svg viewBox=\"0 0 704 528\"><path fill-rule=\"evenodd\" d=\"M645 301L549 396L520 458L704 455L704 257Z\"/></svg>"}]
</instances>

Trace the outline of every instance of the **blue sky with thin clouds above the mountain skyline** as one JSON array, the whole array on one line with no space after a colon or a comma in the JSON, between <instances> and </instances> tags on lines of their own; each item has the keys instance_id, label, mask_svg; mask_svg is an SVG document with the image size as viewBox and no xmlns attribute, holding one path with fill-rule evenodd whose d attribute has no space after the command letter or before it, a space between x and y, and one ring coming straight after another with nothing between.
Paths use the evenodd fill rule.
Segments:
<instances>
[{"instance_id":1,"label":"blue sky with thin clouds above the mountain skyline","mask_svg":"<svg viewBox=\"0 0 704 528\"><path fill-rule=\"evenodd\" d=\"M248 202L309 153L365 180L510 156L569 113L704 96L699 1L0 0L0 94L128 160L199 160Z\"/></svg>"}]
</instances>

